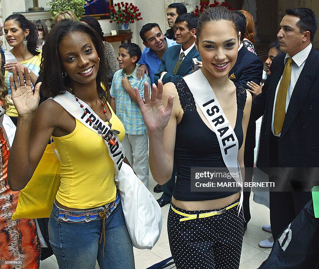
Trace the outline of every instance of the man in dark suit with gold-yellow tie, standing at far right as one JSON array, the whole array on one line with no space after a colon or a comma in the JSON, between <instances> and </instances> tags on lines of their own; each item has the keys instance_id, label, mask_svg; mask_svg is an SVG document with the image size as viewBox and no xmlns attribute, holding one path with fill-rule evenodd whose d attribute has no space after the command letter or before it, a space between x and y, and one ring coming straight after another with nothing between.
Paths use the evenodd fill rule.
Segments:
<instances>
[{"instance_id":1,"label":"man in dark suit with gold-yellow tie, standing at far right","mask_svg":"<svg viewBox=\"0 0 319 269\"><path fill-rule=\"evenodd\" d=\"M280 23L277 37L285 53L273 60L271 74L252 105L251 117L256 120L264 114L257 159L261 169L306 167L310 171L319 166L319 52L311 44L317 27L309 8L287 9ZM302 185L303 176L298 175L294 185L289 178L275 181L275 187L286 183L293 191L270 191L275 240L311 199L310 192L294 191Z\"/></svg>"}]
</instances>

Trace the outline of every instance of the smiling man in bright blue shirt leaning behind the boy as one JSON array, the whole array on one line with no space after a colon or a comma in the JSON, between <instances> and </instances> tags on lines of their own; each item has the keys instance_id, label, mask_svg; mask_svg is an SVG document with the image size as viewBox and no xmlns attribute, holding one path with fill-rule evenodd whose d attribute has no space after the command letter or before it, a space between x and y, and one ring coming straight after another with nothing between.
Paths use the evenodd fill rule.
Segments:
<instances>
[{"instance_id":1,"label":"smiling man in bright blue shirt leaning behind the boy","mask_svg":"<svg viewBox=\"0 0 319 269\"><path fill-rule=\"evenodd\" d=\"M143 50L141 59L138 62L140 66L137 69L137 78L144 78L146 73L150 76L153 84L154 74L159 68L166 49L177 45L177 43L165 37L157 23L145 24L139 34L146 48Z\"/></svg>"}]
</instances>

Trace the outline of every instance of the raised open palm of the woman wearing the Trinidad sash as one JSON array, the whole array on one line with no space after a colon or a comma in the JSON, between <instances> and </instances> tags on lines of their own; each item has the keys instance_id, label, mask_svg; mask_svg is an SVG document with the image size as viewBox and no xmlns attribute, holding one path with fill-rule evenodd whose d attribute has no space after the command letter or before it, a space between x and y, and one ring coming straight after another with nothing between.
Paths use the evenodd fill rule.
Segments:
<instances>
[{"instance_id":1,"label":"raised open palm of the woman wearing the Trinidad sash","mask_svg":"<svg viewBox=\"0 0 319 269\"><path fill-rule=\"evenodd\" d=\"M35 86L33 93L27 67L24 67L25 79L19 65L12 68L12 73L13 75L10 76L11 98L19 116L33 113L39 106L41 82Z\"/></svg>"}]
</instances>

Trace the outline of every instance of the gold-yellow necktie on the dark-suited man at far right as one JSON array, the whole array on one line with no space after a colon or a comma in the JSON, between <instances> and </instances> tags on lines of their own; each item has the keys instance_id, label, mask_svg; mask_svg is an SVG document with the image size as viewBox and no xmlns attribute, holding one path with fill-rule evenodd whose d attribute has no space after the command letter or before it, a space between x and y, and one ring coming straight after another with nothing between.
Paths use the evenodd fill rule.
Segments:
<instances>
[{"instance_id":1,"label":"gold-yellow necktie on the dark-suited man at far right","mask_svg":"<svg viewBox=\"0 0 319 269\"><path fill-rule=\"evenodd\" d=\"M293 63L293 59L291 57L288 58L286 66L284 68L284 73L282 74L282 79L280 81L280 85L278 88L276 105L275 105L275 115L274 115L274 132L275 134L279 134L282 129L282 125L284 124L285 116L286 116L286 100L287 100L287 92L291 78L291 64Z\"/></svg>"}]
</instances>

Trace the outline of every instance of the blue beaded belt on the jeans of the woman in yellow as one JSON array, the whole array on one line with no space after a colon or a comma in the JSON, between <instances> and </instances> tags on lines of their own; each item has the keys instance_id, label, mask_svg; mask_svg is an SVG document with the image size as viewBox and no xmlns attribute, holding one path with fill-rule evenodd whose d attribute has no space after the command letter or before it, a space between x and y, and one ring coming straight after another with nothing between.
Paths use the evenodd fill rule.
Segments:
<instances>
[{"instance_id":1,"label":"blue beaded belt on the jeans of the woman in yellow","mask_svg":"<svg viewBox=\"0 0 319 269\"><path fill-rule=\"evenodd\" d=\"M93 209L90 211L93 212L82 212L81 214L71 214L70 211L60 211L59 210L59 215L58 215L58 220L63 221L63 222L74 222L74 223L85 223L85 222L90 222L93 220L96 220L97 218L107 218L112 211L116 208L116 205L120 202L120 195L116 193L116 198L113 202L110 202L103 206L103 208L98 208L98 209ZM105 213L100 214L100 213Z\"/></svg>"}]
</instances>

